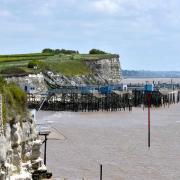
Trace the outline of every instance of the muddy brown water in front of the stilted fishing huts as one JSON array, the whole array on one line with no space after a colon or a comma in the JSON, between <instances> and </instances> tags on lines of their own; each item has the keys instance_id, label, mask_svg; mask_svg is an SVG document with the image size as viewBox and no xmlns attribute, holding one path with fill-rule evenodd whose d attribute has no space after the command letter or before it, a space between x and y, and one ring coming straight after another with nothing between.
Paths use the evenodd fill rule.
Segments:
<instances>
[{"instance_id":1,"label":"muddy brown water in front of the stilted fishing huts","mask_svg":"<svg viewBox=\"0 0 180 180\"><path fill-rule=\"evenodd\" d=\"M180 104L151 109L148 148L147 109L132 112L45 112L48 122L47 167L54 179L179 180ZM43 151L43 149L42 149Z\"/></svg>"}]
</instances>

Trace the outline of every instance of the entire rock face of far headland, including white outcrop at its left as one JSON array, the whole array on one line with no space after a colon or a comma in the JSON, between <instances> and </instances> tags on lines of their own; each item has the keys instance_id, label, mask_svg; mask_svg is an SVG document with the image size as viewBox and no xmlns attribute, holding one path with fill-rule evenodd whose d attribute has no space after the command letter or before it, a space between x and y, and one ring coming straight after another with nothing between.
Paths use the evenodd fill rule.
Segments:
<instances>
[{"instance_id":1,"label":"entire rock face of far headland, including white outcrop at its left","mask_svg":"<svg viewBox=\"0 0 180 180\"><path fill-rule=\"evenodd\" d=\"M46 84L52 88L59 86L78 86L87 85L106 85L118 84L122 79L121 65L118 55L112 55L109 58L85 60L87 67L91 73L89 75L65 76L60 73L48 71L44 75L29 75L26 77L8 78L9 82L13 81L22 89L25 86L34 88L34 92L44 92L47 90ZM46 83L45 83L46 82Z\"/></svg>"}]
</instances>

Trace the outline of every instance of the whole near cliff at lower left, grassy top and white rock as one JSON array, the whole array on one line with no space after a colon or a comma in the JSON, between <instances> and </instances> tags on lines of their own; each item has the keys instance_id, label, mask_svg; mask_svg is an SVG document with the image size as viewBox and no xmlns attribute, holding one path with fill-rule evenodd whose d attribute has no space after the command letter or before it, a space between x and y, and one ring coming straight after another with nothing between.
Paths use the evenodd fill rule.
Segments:
<instances>
[{"instance_id":1,"label":"whole near cliff at lower left, grassy top and white rock","mask_svg":"<svg viewBox=\"0 0 180 180\"><path fill-rule=\"evenodd\" d=\"M0 78L0 180L31 180L34 173L41 179L47 173L26 101L25 92Z\"/></svg>"}]
</instances>

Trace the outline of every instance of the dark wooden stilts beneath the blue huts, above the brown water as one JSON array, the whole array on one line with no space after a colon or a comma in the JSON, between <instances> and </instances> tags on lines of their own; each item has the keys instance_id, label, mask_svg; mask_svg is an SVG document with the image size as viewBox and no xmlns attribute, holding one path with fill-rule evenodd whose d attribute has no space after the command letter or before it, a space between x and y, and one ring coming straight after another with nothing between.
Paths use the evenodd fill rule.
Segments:
<instances>
[{"instance_id":1,"label":"dark wooden stilts beneath the blue huts, above the brown water","mask_svg":"<svg viewBox=\"0 0 180 180\"><path fill-rule=\"evenodd\" d=\"M34 95L28 94L28 106L32 109L51 111L131 111L132 107L142 104L147 106L147 94L142 90L132 92L113 91L109 94L74 93L63 91L59 94ZM177 103L180 100L180 91L152 92L151 105L155 107Z\"/></svg>"}]
</instances>

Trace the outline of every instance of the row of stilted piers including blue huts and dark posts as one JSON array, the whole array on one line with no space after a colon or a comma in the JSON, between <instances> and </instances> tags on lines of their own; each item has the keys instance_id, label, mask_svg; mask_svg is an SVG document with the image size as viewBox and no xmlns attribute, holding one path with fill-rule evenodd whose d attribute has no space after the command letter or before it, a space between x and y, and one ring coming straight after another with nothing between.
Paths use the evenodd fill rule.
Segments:
<instances>
[{"instance_id":1,"label":"row of stilted piers including blue huts and dark posts","mask_svg":"<svg viewBox=\"0 0 180 180\"><path fill-rule=\"evenodd\" d=\"M169 106L180 100L179 89L155 89L150 103L154 107ZM131 111L132 107L147 106L148 92L142 87L123 91L119 86L59 87L44 94L28 94L32 109L51 111Z\"/></svg>"}]
</instances>

